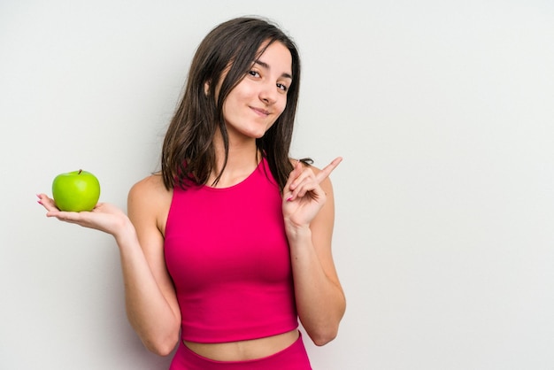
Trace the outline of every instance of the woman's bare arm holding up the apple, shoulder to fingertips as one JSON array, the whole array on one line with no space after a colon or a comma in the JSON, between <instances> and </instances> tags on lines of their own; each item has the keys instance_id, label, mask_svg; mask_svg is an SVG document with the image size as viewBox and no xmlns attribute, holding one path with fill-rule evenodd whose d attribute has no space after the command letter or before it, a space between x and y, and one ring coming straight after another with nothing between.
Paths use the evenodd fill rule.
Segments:
<instances>
[{"instance_id":1,"label":"woman's bare arm holding up the apple, shoulder to fingertips","mask_svg":"<svg viewBox=\"0 0 554 370\"><path fill-rule=\"evenodd\" d=\"M114 236L125 284L127 317L142 343L159 355L169 354L179 341L181 313L163 255L165 218L171 192L160 176L138 182L129 192L128 217L112 204L97 204L92 212L60 212L42 194L39 203L55 217Z\"/></svg>"}]
</instances>

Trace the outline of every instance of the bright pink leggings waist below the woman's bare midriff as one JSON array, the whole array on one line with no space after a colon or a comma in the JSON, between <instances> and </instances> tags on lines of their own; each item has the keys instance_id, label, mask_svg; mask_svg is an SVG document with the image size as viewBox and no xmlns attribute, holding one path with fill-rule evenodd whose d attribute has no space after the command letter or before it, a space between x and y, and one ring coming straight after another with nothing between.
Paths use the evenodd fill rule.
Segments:
<instances>
[{"instance_id":1,"label":"bright pink leggings waist below the woman's bare midriff","mask_svg":"<svg viewBox=\"0 0 554 370\"><path fill-rule=\"evenodd\" d=\"M265 358L246 361L216 361L204 358L181 342L169 370L312 370L302 335L295 343Z\"/></svg>"}]
</instances>

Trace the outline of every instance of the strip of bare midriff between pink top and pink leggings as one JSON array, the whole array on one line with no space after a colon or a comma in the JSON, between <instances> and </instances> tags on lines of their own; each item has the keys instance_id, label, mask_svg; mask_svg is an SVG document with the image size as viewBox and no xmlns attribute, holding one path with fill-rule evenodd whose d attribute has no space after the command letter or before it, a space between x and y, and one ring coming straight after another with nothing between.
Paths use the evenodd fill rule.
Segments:
<instances>
[{"instance_id":1,"label":"strip of bare midriff between pink top and pink leggings","mask_svg":"<svg viewBox=\"0 0 554 370\"><path fill-rule=\"evenodd\" d=\"M255 358L265 358L282 351L295 343L298 330L267 336L265 338L228 343L196 343L183 341L190 351L216 361L245 361Z\"/></svg>"}]
</instances>

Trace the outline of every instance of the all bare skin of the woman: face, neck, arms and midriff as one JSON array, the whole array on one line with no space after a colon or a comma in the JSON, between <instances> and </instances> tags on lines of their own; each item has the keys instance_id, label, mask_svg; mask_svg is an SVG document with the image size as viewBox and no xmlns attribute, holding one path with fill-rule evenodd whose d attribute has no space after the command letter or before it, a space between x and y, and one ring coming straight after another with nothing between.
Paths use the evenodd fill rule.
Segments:
<instances>
[{"instance_id":1,"label":"all bare skin of the woman: face, neck, arms and midriff","mask_svg":"<svg viewBox=\"0 0 554 370\"><path fill-rule=\"evenodd\" d=\"M256 138L265 134L287 104L292 81L289 50L270 45L250 73L227 96L224 116L229 136L227 167L218 188L244 180L258 166ZM216 89L217 90L217 89ZM217 93L217 91L216 91ZM215 135L216 164L222 166L223 142ZM342 287L331 252L334 198L330 173L342 158L319 170L293 161L283 189L282 211L289 239L296 306L313 343L335 338L345 310ZM215 173L208 183L215 179ZM60 212L53 200L39 195L48 217L91 227L114 236L119 246L127 317L142 343L167 355L180 340L181 312L164 260L165 221L173 192L158 174L137 182L129 191L127 215L112 204L99 203L92 212ZM221 361L269 356L294 343L298 331L233 343L190 343L192 351Z\"/></svg>"}]
</instances>

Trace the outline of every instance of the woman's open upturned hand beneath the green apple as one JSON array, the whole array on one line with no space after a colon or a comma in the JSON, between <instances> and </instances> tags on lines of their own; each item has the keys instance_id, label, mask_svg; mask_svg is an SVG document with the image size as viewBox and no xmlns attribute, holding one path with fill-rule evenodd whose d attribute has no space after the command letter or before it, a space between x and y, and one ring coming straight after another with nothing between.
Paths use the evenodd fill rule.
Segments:
<instances>
[{"instance_id":1,"label":"woman's open upturned hand beneath the green apple","mask_svg":"<svg viewBox=\"0 0 554 370\"><path fill-rule=\"evenodd\" d=\"M48 211L47 217L55 217L81 227L104 231L116 238L131 226L127 215L113 204L98 203L90 212L64 212L60 211L54 203L54 199L46 194L38 194L36 197L39 198L38 203Z\"/></svg>"}]
</instances>

